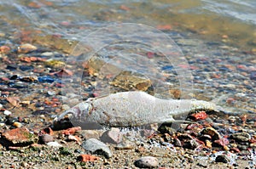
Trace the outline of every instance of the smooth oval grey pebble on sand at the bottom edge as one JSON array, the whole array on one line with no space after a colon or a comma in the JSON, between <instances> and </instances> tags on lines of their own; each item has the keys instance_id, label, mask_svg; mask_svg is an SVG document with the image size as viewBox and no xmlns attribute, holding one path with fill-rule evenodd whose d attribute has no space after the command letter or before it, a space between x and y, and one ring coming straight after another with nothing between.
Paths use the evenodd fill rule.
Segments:
<instances>
[{"instance_id":1,"label":"smooth oval grey pebble on sand at the bottom edge","mask_svg":"<svg viewBox=\"0 0 256 169\"><path fill-rule=\"evenodd\" d=\"M158 166L158 160L153 156L144 156L135 161L134 165L139 168L153 168Z\"/></svg>"}]
</instances>

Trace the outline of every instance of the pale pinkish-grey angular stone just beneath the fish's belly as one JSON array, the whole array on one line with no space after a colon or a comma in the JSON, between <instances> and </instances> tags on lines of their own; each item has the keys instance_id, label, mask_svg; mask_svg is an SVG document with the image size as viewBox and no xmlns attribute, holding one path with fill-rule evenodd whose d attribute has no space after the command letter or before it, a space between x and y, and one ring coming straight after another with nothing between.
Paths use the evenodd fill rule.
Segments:
<instances>
[{"instance_id":1,"label":"pale pinkish-grey angular stone just beneath the fish's belly","mask_svg":"<svg viewBox=\"0 0 256 169\"><path fill-rule=\"evenodd\" d=\"M119 128L112 127L102 134L101 140L108 144L119 144L122 142L122 138L123 134L120 132Z\"/></svg>"}]
</instances>

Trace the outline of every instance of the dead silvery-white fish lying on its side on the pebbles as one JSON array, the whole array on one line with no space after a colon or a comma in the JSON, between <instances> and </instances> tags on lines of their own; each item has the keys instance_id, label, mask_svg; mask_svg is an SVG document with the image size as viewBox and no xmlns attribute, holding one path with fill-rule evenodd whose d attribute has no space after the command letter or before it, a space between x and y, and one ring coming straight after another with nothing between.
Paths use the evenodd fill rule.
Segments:
<instances>
[{"instance_id":1,"label":"dead silvery-white fish lying on its side on the pebbles","mask_svg":"<svg viewBox=\"0 0 256 169\"><path fill-rule=\"evenodd\" d=\"M215 104L195 99L159 99L144 92L112 93L87 99L62 113L72 114L75 121L94 122L109 127L137 127L175 121L175 115L197 110L218 110Z\"/></svg>"}]
</instances>

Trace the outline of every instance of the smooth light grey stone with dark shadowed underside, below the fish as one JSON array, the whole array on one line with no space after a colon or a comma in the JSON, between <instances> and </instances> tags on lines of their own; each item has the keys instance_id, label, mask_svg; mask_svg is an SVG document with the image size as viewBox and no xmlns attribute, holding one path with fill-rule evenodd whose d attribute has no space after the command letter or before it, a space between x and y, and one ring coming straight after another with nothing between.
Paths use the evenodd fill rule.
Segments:
<instances>
[{"instance_id":1,"label":"smooth light grey stone with dark shadowed underside, below the fish","mask_svg":"<svg viewBox=\"0 0 256 169\"><path fill-rule=\"evenodd\" d=\"M108 148L108 145L102 143L96 138L85 140L81 146L92 154L103 155L106 158L112 157L112 152Z\"/></svg>"}]
</instances>

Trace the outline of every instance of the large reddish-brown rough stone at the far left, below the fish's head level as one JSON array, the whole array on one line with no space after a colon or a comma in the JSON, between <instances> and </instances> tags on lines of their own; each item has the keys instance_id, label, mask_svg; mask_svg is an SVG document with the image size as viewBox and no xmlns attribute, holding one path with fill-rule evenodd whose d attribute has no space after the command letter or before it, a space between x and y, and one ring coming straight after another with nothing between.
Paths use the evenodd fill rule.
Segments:
<instances>
[{"instance_id":1,"label":"large reddish-brown rough stone at the far left, below the fish's head level","mask_svg":"<svg viewBox=\"0 0 256 169\"><path fill-rule=\"evenodd\" d=\"M26 146L33 144L36 141L36 136L29 132L26 127L15 128L7 132L3 132L0 142L3 146Z\"/></svg>"}]
</instances>

